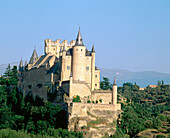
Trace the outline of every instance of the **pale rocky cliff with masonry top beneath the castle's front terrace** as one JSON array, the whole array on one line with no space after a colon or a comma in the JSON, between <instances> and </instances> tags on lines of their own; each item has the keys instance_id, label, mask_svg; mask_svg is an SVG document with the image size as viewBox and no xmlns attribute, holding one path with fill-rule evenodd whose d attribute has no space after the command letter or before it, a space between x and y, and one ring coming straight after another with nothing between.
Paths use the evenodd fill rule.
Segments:
<instances>
[{"instance_id":1,"label":"pale rocky cliff with masonry top beneath the castle's front terrace","mask_svg":"<svg viewBox=\"0 0 170 138\"><path fill-rule=\"evenodd\" d=\"M114 134L120 110L113 104L71 103L69 125L71 131L84 132L84 137Z\"/></svg>"}]
</instances>

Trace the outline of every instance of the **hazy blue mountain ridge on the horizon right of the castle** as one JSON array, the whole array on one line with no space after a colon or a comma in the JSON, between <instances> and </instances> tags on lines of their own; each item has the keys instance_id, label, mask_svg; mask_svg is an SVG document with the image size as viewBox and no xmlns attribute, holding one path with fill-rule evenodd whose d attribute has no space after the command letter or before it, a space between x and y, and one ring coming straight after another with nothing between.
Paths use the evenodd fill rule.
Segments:
<instances>
[{"instance_id":1,"label":"hazy blue mountain ridge on the horizon right of the castle","mask_svg":"<svg viewBox=\"0 0 170 138\"><path fill-rule=\"evenodd\" d=\"M140 87L146 87L150 84L157 85L158 80L164 80L165 84L170 84L170 74L159 73L155 71L131 72L122 69L100 69L101 80L103 77L109 78L113 82L116 78L118 86L122 86L125 82L137 83Z\"/></svg>"}]
</instances>

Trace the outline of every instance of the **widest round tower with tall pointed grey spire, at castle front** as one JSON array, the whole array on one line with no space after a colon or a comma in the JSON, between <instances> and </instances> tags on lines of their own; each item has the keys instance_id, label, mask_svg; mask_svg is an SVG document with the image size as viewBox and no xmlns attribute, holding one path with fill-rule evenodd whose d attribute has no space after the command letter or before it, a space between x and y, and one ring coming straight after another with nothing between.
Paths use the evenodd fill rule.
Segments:
<instances>
[{"instance_id":1,"label":"widest round tower with tall pointed grey spire, at castle front","mask_svg":"<svg viewBox=\"0 0 170 138\"><path fill-rule=\"evenodd\" d=\"M86 47L83 45L83 39L81 37L80 28L76 39L76 44L73 46L73 80L84 81L85 80L85 52Z\"/></svg>"}]
</instances>

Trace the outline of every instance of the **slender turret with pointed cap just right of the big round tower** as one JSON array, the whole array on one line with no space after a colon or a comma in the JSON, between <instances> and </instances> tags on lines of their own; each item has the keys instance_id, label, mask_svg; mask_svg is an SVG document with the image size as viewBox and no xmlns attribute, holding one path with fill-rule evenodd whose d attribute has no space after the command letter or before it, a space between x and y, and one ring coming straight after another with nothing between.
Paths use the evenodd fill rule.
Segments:
<instances>
[{"instance_id":1,"label":"slender turret with pointed cap just right of the big round tower","mask_svg":"<svg viewBox=\"0 0 170 138\"><path fill-rule=\"evenodd\" d=\"M95 87L95 51L94 51L94 45L91 50L91 90L94 90Z\"/></svg>"}]
</instances>

